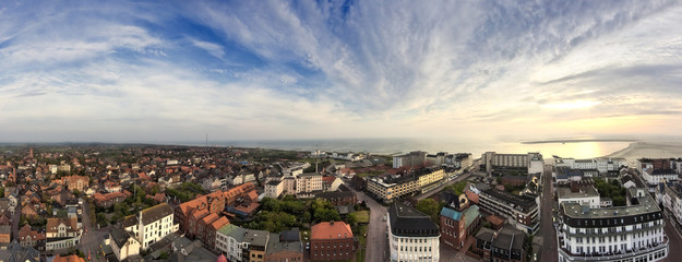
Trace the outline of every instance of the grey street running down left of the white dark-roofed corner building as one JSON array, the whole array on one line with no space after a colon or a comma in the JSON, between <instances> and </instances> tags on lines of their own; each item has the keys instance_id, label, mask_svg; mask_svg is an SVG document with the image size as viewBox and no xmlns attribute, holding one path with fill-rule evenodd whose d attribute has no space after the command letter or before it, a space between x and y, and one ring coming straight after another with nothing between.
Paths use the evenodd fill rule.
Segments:
<instances>
[{"instance_id":1,"label":"grey street running down left of the white dark-roofed corner building","mask_svg":"<svg viewBox=\"0 0 682 262\"><path fill-rule=\"evenodd\" d=\"M370 224L367 228L367 252L364 253L364 261L388 261L388 238L386 237L386 222L384 216L388 212L386 206L379 204L372 198L364 194L364 192L350 190L356 193L359 201L364 201L370 209Z\"/></svg>"}]
</instances>

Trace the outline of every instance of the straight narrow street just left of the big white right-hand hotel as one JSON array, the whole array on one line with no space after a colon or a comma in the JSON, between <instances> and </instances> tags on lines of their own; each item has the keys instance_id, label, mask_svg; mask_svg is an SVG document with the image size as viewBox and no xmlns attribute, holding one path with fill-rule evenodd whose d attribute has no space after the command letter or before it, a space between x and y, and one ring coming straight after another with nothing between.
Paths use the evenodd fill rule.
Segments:
<instances>
[{"instance_id":1,"label":"straight narrow street just left of the big white right-hand hotel","mask_svg":"<svg viewBox=\"0 0 682 262\"><path fill-rule=\"evenodd\" d=\"M540 212L541 212L541 225L540 233L537 235L542 237L542 247L540 257L538 258L540 261L559 261L559 253L557 249L557 230L554 228L552 209L554 206L554 194L552 192L552 168L545 168L545 172L542 174L542 196L540 203ZM537 237L537 236L536 236ZM537 251L536 251L537 252Z\"/></svg>"}]
</instances>

